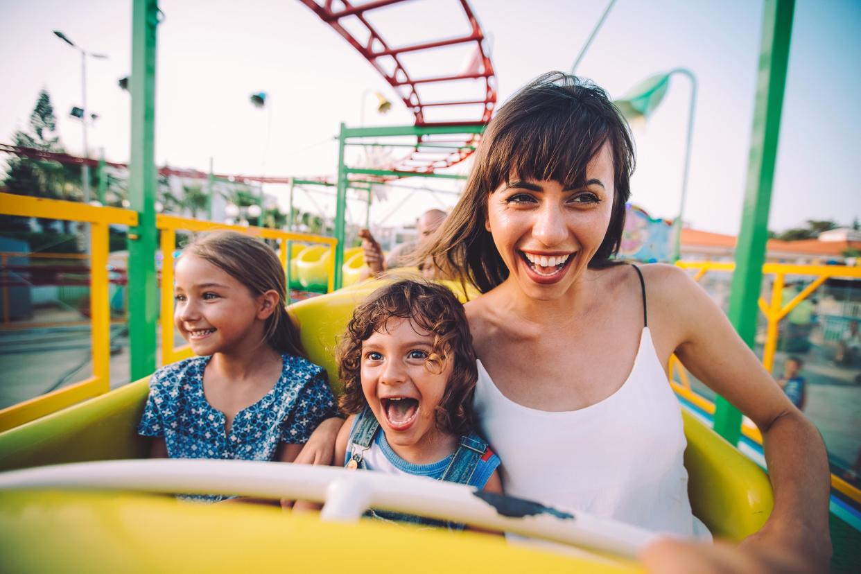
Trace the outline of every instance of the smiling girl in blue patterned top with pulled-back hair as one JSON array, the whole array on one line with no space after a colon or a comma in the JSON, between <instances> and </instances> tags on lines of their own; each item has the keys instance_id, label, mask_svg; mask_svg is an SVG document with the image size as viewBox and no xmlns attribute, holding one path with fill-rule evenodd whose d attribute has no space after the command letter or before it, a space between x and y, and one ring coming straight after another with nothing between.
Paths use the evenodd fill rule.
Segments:
<instances>
[{"instance_id":1,"label":"smiling girl in blue patterned top with pulled-back hair","mask_svg":"<svg viewBox=\"0 0 861 574\"><path fill-rule=\"evenodd\" d=\"M174 321L198 356L152 375L138 427L155 437L152 456L294 460L338 410L325 371L302 356L275 253L209 233L183 250L173 288Z\"/></svg>"}]
</instances>

